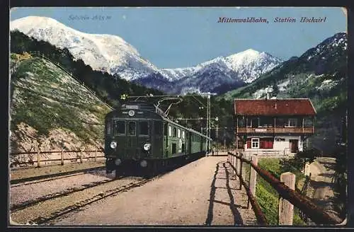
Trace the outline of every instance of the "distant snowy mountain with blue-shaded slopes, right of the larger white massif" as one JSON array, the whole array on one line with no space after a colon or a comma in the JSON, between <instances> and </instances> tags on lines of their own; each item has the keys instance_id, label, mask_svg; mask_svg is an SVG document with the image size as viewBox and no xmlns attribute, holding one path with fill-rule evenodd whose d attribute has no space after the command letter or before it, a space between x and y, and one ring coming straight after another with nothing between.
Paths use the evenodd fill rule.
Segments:
<instances>
[{"instance_id":1,"label":"distant snowy mountain with blue-shaded slopes, right of the larger white massif","mask_svg":"<svg viewBox=\"0 0 354 232\"><path fill-rule=\"evenodd\" d=\"M249 49L229 57L217 57L194 67L163 69L164 76L169 76L169 83L162 83L162 76L157 78L156 74L135 81L173 94L191 91L225 93L251 83L281 62L268 53Z\"/></svg>"}]
</instances>

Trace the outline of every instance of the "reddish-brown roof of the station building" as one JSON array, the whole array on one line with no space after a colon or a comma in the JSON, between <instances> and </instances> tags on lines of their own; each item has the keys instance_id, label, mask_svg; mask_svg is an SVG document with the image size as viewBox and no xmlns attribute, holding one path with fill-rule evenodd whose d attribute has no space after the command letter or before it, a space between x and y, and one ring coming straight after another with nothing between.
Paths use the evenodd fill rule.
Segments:
<instances>
[{"instance_id":1,"label":"reddish-brown roof of the station building","mask_svg":"<svg viewBox=\"0 0 354 232\"><path fill-rule=\"evenodd\" d=\"M309 98L235 99L236 115L316 115Z\"/></svg>"}]
</instances>

